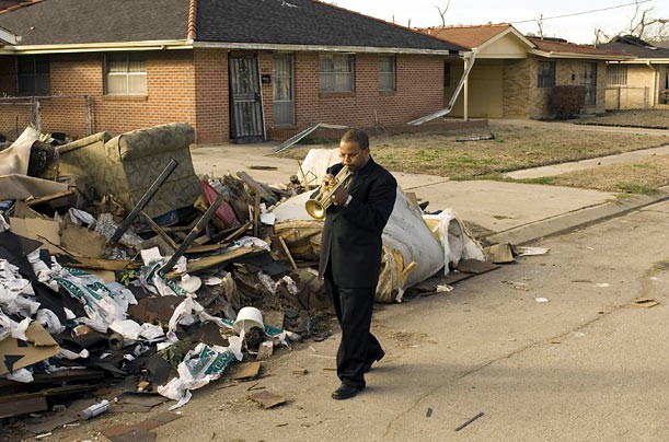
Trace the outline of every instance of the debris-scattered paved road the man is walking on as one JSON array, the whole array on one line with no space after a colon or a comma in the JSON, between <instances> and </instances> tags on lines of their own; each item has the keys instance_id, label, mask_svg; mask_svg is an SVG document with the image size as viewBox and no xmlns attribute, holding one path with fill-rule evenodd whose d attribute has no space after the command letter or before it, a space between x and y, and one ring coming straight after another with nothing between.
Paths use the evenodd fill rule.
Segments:
<instances>
[{"instance_id":1,"label":"debris-scattered paved road the man is walking on","mask_svg":"<svg viewBox=\"0 0 669 442\"><path fill-rule=\"evenodd\" d=\"M388 356L353 399L330 397L335 336L276 353L261 380L196 392L158 440L669 440L668 214L649 206L450 293L379 305ZM258 388L288 403L261 409L246 398Z\"/></svg>"}]
</instances>

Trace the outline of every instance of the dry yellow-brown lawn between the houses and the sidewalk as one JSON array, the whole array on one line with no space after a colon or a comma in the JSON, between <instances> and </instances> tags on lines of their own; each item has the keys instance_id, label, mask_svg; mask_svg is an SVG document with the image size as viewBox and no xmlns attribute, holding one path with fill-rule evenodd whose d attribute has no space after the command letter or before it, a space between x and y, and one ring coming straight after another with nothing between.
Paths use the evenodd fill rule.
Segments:
<instances>
[{"instance_id":1,"label":"dry yellow-brown lawn between the houses and the sidewalk","mask_svg":"<svg viewBox=\"0 0 669 442\"><path fill-rule=\"evenodd\" d=\"M458 141L489 133L495 136L494 140ZM489 129L379 136L372 137L371 143L374 159L391 171L451 179L503 179L505 172L665 146L669 143L669 132L667 136L596 132L557 125L546 130L530 124L491 121ZM297 146L280 155L302 159L310 149L335 147L336 143ZM579 187L590 185L584 181Z\"/></svg>"}]
</instances>

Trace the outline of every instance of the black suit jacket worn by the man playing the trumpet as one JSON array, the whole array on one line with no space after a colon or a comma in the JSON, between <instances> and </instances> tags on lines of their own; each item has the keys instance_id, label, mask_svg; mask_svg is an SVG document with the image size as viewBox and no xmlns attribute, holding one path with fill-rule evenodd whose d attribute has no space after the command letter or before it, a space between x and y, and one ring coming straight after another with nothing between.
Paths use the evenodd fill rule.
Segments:
<instances>
[{"instance_id":1,"label":"black suit jacket worn by the man playing the trumpet","mask_svg":"<svg viewBox=\"0 0 669 442\"><path fill-rule=\"evenodd\" d=\"M342 164L327 172L335 175ZM321 241L319 274L332 266L335 284L346 288L377 287L381 269L381 233L393 211L397 182L370 156L348 186L347 207L330 206Z\"/></svg>"}]
</instances>

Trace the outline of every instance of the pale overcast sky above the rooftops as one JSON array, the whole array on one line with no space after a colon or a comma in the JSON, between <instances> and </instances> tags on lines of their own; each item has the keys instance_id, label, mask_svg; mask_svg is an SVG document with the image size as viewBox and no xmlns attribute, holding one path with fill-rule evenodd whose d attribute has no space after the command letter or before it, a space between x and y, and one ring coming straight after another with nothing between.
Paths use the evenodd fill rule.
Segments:
<instances>
[{"instance_id":1,"label":"pale overcast sky above the rooftops","mask_svg":"<svg viewBox=\"0 0 669 442\"><path fill-rule=\"evenodd\" d=\"M388 22L394 19L395 23L404 26L411 20L412 27L427 27L441 25L437 7L443 9L448 0L328 2ZM650 8L650 16L669 19L669 0L645 0L641 4L642 11ZM590 12L593 10L600 11ZM634 11L633 0L451 0L445 19L447 25L511 23L523 34L539 34L537 20L543 14L544 36L590 44L595 40L595 28L602 30L607 35L628 30ZM560 15L568 16L551 19Z\"/></svg>"}]
</instances>

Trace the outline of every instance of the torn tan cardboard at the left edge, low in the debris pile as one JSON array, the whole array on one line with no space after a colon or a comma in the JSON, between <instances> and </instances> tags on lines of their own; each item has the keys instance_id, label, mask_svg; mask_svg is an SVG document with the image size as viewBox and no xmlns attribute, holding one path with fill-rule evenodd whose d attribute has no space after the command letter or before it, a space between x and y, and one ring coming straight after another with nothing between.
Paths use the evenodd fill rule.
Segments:
<instances>
[{"instance_id":1,"label":"torn tan cardboard at the left edge, low in the debris pile","mask_svg":"<svg viewBox=\"0 0 669 442\"><path fill-rule=\"evenodd\" d=\"M0 340L0 375L44 361L60 351L58 344L39 323L25 330L27 341L5 338Z\"/></svg>"}]
</instances>

